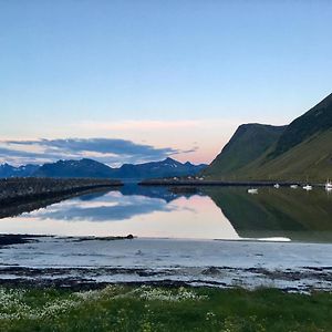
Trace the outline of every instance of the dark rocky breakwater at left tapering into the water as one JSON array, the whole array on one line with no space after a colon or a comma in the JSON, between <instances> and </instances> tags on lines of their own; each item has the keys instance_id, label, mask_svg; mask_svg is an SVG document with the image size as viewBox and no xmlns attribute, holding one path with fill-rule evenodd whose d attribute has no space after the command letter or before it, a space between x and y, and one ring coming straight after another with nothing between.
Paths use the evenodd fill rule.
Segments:
<instances>
[{"instance_id":1,"label":"dark rocky breakwater at left tapering into the water","mask_svg":"<svg viewBox=\"0 0 332 332\"><path fill-rule=\"evenodd\" d=\"M116 186L122 183L91 178L6 178L0 179L0 205Z\"/></svg>"}]
</instances>

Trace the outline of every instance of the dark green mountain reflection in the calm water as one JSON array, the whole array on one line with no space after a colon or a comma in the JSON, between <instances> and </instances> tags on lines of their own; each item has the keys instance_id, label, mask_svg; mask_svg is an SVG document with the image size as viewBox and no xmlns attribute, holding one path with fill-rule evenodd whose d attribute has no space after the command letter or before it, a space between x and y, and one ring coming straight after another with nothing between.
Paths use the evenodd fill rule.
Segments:
<instances>
[{"instance_id":1,"label":"dark green mountain reflection in the calm water","mask_svg":"<svg viewBox=\"0 0 332 332\"><path fill-rule=\"evenodd\" d=\"M332 241L332 196L322 188L205 188L242 238Z\"/></svg>"}]
</instances>

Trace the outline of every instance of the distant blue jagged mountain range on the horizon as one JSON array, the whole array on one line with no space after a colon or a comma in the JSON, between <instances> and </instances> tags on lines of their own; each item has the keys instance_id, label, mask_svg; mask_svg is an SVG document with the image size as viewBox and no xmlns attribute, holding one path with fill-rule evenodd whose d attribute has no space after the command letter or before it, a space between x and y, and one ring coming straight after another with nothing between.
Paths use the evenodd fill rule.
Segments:
<instances>
[{"instance_id":1,"label":"distant blue jagged mountain range on the horizon","mask_svg":"<svg viewBox=\"0 0 332 332\"><path fill-rule=\"evenodd\" d=\"M8 164L0 165L0 177L91 177L91 178L118 178L143 179L173 176L193 176L200 173L207 165L193 165L187 162L179 163L173 158L162 162L145 164L124 164L118 168L112 168L93 159L59 160L56 163L25 165L13 167Z\"/></svg>"}]
</instances>

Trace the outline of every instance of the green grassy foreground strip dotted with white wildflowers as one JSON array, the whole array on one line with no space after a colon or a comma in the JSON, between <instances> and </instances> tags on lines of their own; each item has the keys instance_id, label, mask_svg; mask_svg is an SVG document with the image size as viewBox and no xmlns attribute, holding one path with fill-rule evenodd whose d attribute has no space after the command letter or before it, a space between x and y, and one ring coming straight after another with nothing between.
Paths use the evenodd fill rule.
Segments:
<instances>
[{"instance_id":1,"label":"green grassy foreground strip dotted with white wildflowers","mask_svg":"<svg viewBox=\"0 0 332 332\"><path fill-rule=\"evenodd\" d=\"M332 294L111 286L0 288L0 331L332 331Z\"/></svg>"}]
</instances>

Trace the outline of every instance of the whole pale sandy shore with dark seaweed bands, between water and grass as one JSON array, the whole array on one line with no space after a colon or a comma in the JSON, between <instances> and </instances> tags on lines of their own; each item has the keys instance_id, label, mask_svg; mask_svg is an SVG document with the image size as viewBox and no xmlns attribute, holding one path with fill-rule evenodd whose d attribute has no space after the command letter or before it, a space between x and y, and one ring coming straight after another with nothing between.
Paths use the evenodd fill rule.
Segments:
<instances>
[{"instance_id":1,"label":"whole pale sandy shore with dark seaweed bands, between water and grass","mask_svg":"<svg viewBox=\"0 0 332 332\"><path fill-rule=\"evenodd\" d=\"M79 240L77 240L79 239ZM332 245L34 237L0 248L0 284L332 291ZM29 258L29 259L28 259Z\"/></svg>"}]
</instances>

